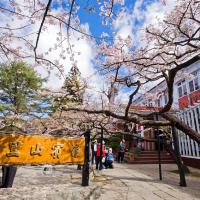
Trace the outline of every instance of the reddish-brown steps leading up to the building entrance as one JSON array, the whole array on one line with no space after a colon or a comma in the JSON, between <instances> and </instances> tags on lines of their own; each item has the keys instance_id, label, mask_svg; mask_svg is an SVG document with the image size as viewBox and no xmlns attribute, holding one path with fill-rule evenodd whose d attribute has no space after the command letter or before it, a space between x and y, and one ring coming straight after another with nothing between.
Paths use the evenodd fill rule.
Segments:
<instances>
[{"instance_id":1,"label":"reddish-brown steps leading up to the building entrance","mask_svg":"<svg viewBox=\"0 0 200 200\"><path fill-rule=\"evenodd\" d=\"M166 152L161 151L161 164L175 163L172 156ZM130 153L125 156L125 161L132 164L158 164L158 152L157 151L142 151L138 157L134 157Z\"/></svg>"}]
</instances>

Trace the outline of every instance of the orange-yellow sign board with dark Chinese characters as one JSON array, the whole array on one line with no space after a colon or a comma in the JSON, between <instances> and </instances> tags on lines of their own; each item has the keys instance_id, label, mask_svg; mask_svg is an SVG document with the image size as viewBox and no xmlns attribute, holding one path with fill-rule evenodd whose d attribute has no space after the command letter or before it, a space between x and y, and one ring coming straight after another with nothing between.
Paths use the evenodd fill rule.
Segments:
<instances>
[{"instance_id":1,"label":"orange-yellow sign board with dark Chinese characters","mask_svg":"<svg viewBox=\"0 0 200 200\"><path fill-rule=\"evenodd\" d=\"M84 163L85 139L0 135L0 165Z\"/></svg>"}]
</instances>

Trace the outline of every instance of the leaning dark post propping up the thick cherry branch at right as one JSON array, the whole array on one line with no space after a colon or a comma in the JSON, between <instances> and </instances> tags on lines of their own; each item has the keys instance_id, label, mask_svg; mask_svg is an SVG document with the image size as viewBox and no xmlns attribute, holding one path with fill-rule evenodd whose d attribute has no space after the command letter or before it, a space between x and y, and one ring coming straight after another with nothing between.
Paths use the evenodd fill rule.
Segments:
<instances>
[{"instance_id":1,"label":"leaning dark post propping up the thick cherry branch at right","mask_svg":"<svg viewBox=\"0 0 200 200\"><path fill-rule=\"evenodd\" d=\"M185 170L184 170L184 165L183 165L180 151L179 151L178 136L176 133L175 126L172 126L172 137L173 137L173 141L174 141L174 152L175 152L176 164L178 166L179 175L180 175L180 186L186 187L187 184L186 184L186 180L185 180Z\"/></svg>"}]
</instances>

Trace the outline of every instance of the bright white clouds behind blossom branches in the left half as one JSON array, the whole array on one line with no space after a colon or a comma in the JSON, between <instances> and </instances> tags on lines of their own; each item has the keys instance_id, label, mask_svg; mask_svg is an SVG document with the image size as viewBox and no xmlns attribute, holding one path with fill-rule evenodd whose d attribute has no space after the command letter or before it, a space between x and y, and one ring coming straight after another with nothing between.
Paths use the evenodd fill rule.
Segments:
<instances>
[{"instance_id":1,"label":"bright white clouds behind blossom branches in the left half","mask_svg":"<svg viewBox=\"0 0 200 200\"><path fill-rule=\"evenodd\" d=\"M21 0L20 0L21 1ZM18 3L20 3L18 1ZM23 4L22 4L23 5ZM60 10L54 10L54 14L59 14ZM26 13L26 11L22 12L23 14ZM26 13L28 14L28 13ZM27 24L27 19L18 19L17 17L10 17L9 15L5 13L0 14L1 21L0 26L5 26L6 24L9 24L10 27L20 27L25 24ZM48 19L47 19L48 20ZM34 24L32 24L29 28L26 29L26 34L34 32L33 35L26 37L27 40L29 40L33 45L35 45L37 34L36 32L39 29L41 21L35 21ZM60 32L60 26L59 24L44 24L46 26L46 29L42 31L38 43L37 48L37 54L42 55L45 59L48 59L52 62L59 62L59 65L63 65L63 76L60 76L60 72L57 68L52 67L50 70L50 76L48 78L48 81L45 83L45 87L50 87L53 89L58 89L62 86L64 79L70 70L72 64L74 61L71 60L71 55L69 54L69 45L67 40L65 40L62 43L62 46L55 49L55 44L58 44L60 41L57 41L57 38L59 36ZM89 33L89 25L88 24L81 24L82 29L84 29L87 33ZM16 35L24 35L23 29L20 29L18 31L15 31ZM67 35L66 28L62 29L63 38ZM71 34L70 38L70 44L73 49L74 54L74 60L77 63L77 67L79 68L82 76L89 81L90 85L92 87L95 86L93 83L99 83L102 82L102 78L100 79L99 76L96 73L96 70L92 64L92 59L94 59L95 53L93 51L93 42L89 41L88 39L85 39L81 37L82 35L77 32L73 32ZM19 39L13 39L12 42L9 44L10 47L16 48L18 46L21 47L21 52L24 51L26 54L34 55L33 51L30 51L26 46L25 43L22 40ZM51 51L49 49L51 48ZM63 53L64 57L60 57L60 54ZM48 52L48 53L47 53ZM45 54L46 53L46 54ZM3 62L6 59L3 60ZM26 62L30 63L31 65L35 66L35 61L33 58L25 59ZM48 70L45 65L40 64L37 65L36 70L41 74L41 76L47 77L48 76ZM100 84L96 84L97 87Z\"/></svg>"}]
</instances>

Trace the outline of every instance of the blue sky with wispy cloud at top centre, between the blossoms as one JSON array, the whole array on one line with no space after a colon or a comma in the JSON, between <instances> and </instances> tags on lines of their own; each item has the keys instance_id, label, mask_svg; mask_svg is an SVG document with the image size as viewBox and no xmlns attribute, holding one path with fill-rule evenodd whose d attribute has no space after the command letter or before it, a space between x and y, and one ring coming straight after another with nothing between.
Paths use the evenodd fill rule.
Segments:
<instances>
[{"instance_id":1,"label":"blue sky with wispy cloud at top centre, between the blossoms","mask_svg":"<svg viewBox=\"0 0 200 200\"><path fill-rule=\"evenodd\" d=\"M171 4L173 1L168 0L168 3ZM103 17L100 16L100 6L102 6L103 1L98 3L97 0L76 0L76 3L79 6L77 14L80 23L88 24L89 31L92 35L99 37L103 32L108 33L109 38L113 37L113 32L124 35L125 37L131 35L133 40L135 40L135 46L133 48L137 48L137 45L140 43L139 29L147 26L149 23L154 23L157 15L162 16L164 11L168 10L168 7L162 3L162 0L125 0L124 5L114 4L113 18L117 24L105 26L102 24ZM66 8L66 4L62 4L62 6ZM121 10L124 10L126 17L119 20L119 12ZM93 68L96 68L95 65L93 65ZM123 71L120 73L121 75L124 74ZM122 93L125 94L129 91L130 89L126 88L122 90Z\"/></svg>"}]
</instances>

